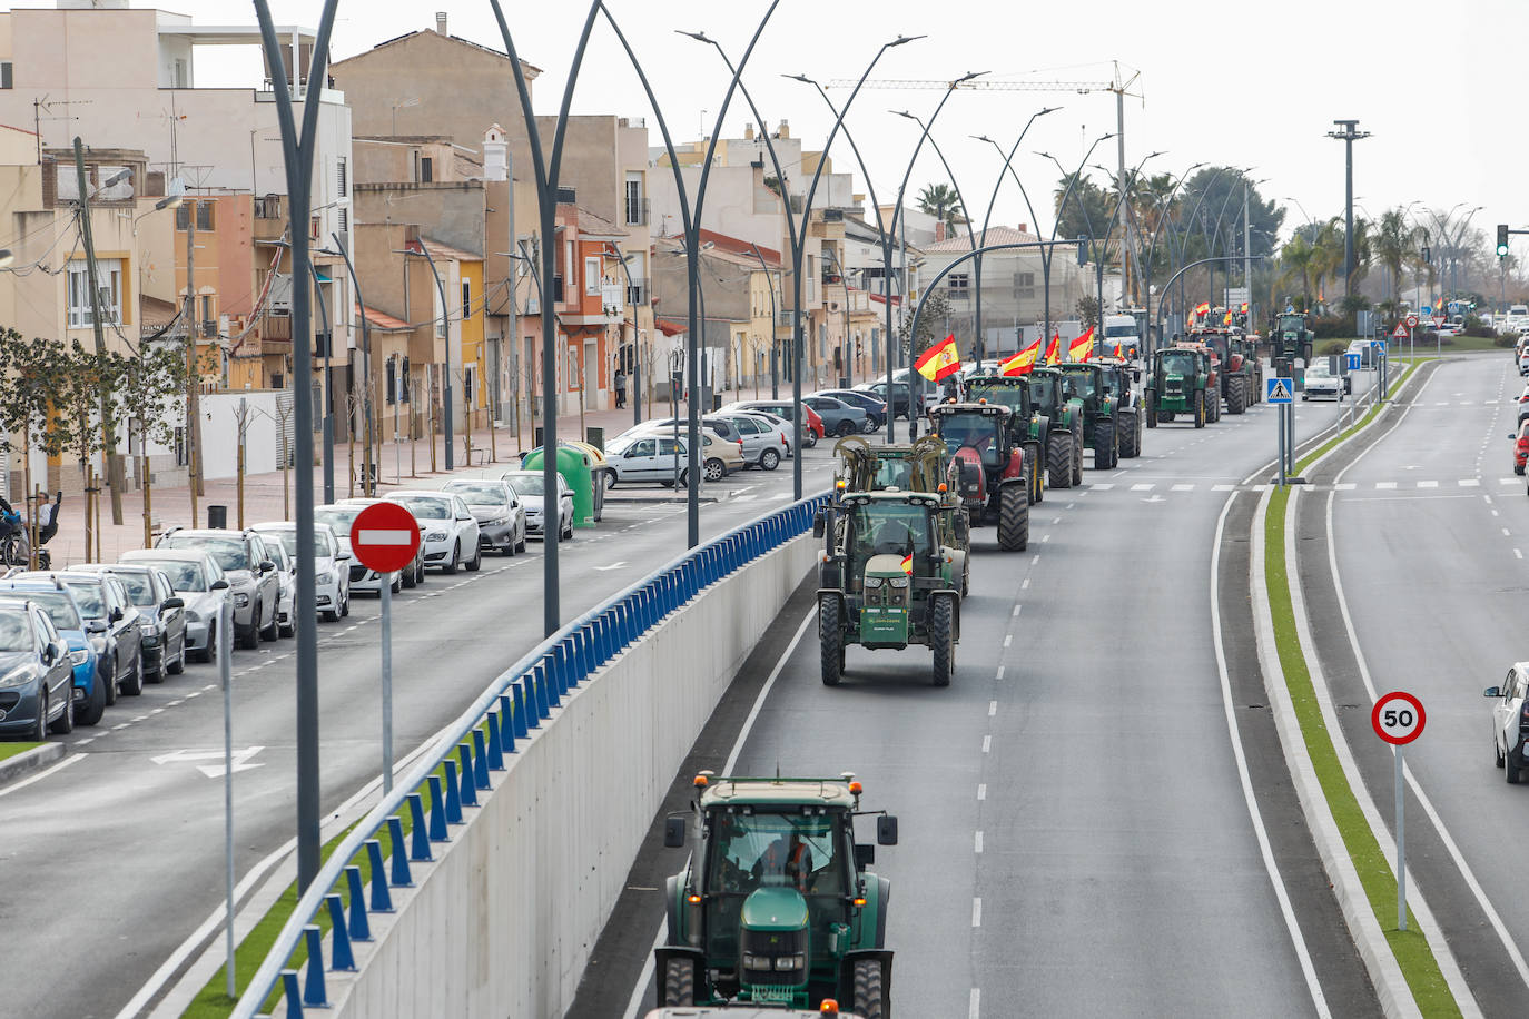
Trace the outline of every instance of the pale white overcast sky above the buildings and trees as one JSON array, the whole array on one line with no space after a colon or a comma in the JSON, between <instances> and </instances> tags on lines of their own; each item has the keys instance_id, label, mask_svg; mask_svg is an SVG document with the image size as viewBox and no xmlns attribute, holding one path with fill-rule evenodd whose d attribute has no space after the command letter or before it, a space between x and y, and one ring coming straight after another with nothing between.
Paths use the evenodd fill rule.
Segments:
<instances>
[{"instance_id":1,"label":"pale white overcast sky above the buildings and trees","mask_svg":"<svg viewBox=\"0 0 1529 1019\"><path fill-rule=\"evenodd\" d=\"M161 5L133 0L133 6ZM167 0L167 6L206 24L254 21L249 0ZM272 0L271 6L277 23L313 26L321 5ZM705 31L737 60L768 0L612 0L610 6L679 141L699 136L700 125L716 119L728 75L714 50L674 29ZM503 8L520 55L544 72L534 87L537 112L557 113L587 8L576 0L503 0ZM434 11L448 14L453 35L502 47L488 0L341 0L333 57L431 27ZM1307 214L1324 218L1342 211L1344 145L1324 134L1333 130L1333 119L1356 118L1359 130L1373 133L1355 144L1358 205L1375 215L1413 200L1439 211L1465 203L1462 214L1480 205L1485 208L1472 226L1491 229L1508 222L1518 228L1529 226L1523 189L1529 131L1523 125L1523 72L1511 76L1511 70L1520 63L1526 27L1526 0L781 0L745 82L764 118L790 121L792 133L810 144L821 142L832 118L807 86L781 75L806 73L824 82L855 78L878 46L899 34L928 38L887 50L873 78L951 79L985 70L995 82L1107 82L1115 73L1112 61L1119 61L1124 76L1139 72L1131 86L1136 95L1125 101L1127 167L1154 150L1165 154L1147 170L1177 174L1197 162L1254 167L1254 179L1268 177L1261 186L1266 197L1290 197L1304 206L1306 214L1287 203L1290 226ZM199 64L197 84L257 82L257 57L246 57ZM401 98L407 95L407 84L399 89ZM842 102L849 90L830 95ZM856 99L847 124L881 200L891 200L917 137L913 122L888 110L925 116L939 98L934 89L865 90ZM962 92L946 104L934 137L966 200L985 209L1000 160L969 136L986 133L1008 147L1041 105L1063 108L1035 122L1015 165L1049 229L1052 203L1043 194L1058 174L1034 151L1050 151L1069 168L1076 165L1089 142L1115 130L1112 93ZM573 112L648 116L605 24L596 27L586 55ZM399 113L401 130L410 113ZM413 113L427 130L430 112ZM739 136L749 119L735 99L723 133ZM659 144L656 122L650 119L648 127ZM1099 145L1090 162L1113 167L1113 145ZM853 167L849 148L836 144L833 156L835 170ZM910 194L939 179L939 162L925 148ZM1420 206L1414 214L1422 215ZM1000 192L994 220L1029 220L1012 183ZM1529 243L1520 243L1518 251L1529 252Z\"/></svg>"}]
</instances>

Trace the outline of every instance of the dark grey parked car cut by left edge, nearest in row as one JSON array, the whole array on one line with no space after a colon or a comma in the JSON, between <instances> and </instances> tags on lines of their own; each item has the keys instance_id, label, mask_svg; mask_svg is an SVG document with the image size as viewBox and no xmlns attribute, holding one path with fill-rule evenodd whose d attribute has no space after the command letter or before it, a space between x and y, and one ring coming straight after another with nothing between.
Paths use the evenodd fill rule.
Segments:
<instances>
[{"instance_id":1,"label":"dark grey parked car cut by left edge, nearest in row","mask_svg":"<svg viewBox=\"0 0 1529 1019\"><path fill-rule=\"evenodd\" d=\"M24 599L0 602L0 735L43 742L75 729L69 645L47 613Z\"/></svg>"}]
</instances>

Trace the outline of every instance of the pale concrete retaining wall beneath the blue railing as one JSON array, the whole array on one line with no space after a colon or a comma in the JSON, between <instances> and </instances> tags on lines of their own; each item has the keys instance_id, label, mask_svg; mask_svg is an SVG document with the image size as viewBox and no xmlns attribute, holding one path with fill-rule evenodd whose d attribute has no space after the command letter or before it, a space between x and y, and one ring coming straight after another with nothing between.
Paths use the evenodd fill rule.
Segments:
<instances>
[{"instance_id":1,"label":"pale concrete retaining wall beneath the blue railing","mask_svg":"<svg viewBox=\"0 0 1529 1019\"><path fill-rule=\"evenodd\" d=\"M398 912L372 914L359 973L327 975L332 1014L561 1016L664 793L815 552L804 535L719 581L573 691L393 891Z\"/></svg>"}]
</instances>

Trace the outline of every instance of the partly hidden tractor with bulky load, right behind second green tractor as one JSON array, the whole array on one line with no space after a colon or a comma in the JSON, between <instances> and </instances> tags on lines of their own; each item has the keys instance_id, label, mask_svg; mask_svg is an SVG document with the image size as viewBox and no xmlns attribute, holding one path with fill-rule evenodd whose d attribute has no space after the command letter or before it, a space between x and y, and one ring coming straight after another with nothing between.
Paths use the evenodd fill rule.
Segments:
<instances>
[{"instance_id":1,"label":"partly hidden tractor with bulky load, right behind second green tractor","mask_svg":"<svg viewBox=\"0 0 1529 1019\"><path fill-rule=\"evenodd\" d=\"M846 435L833 446L844 467L835 481L841 492L930 492L940 497L940 544L951 550L953 576L960 577L960 596L971 591L971 526L956 490L960 469L937 435L919 435L911 443L873 446L864 435Z\"/></svg>"}]
</instances>

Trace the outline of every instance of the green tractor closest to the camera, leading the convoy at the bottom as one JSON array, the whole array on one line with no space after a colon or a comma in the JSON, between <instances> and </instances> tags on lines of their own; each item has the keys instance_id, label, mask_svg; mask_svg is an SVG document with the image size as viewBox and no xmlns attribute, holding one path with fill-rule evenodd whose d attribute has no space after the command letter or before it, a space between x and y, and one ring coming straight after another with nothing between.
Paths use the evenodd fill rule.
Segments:
<instances>
[{"instance_id":1,"label":"green tractor closest to the camera, leading the convoy at the bottom","mask_svg":"<svg viewBox=\"0 0 1529 1019\"><path fill-rule=\"evenodd\" d=\"M752 1005L816 1011L826 999L864 1019L891 1014L887 900L856 842L855 817L878 814L876 845L898 845L898 819L859 808L839 778L696 776L699 843L668 878L667 944L654 950L659 1008ZM664 845L683 848L687 819ZM694 1013L680 1013L694 1014ZM752 1013L751 1013L752 1014ZM775 1014L774 1011L771 1014Z\"/></svg>"}]
</instances>

